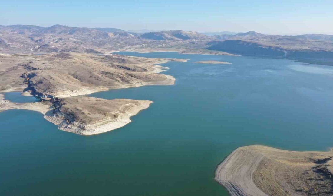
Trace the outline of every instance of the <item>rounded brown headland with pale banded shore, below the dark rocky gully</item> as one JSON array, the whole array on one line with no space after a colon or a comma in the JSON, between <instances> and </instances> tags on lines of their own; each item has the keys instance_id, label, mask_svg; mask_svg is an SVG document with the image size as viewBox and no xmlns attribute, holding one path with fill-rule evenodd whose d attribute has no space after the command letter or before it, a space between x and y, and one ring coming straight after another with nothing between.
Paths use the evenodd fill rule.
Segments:
<instances>
[{"instance_id":1,"label":"rounded brown headland with pale banded shore, below the dark rocky gully","mask_svg":"<svg viewBox=\"0 0 333 196\"><path fill-rule=\"evenodd\" d=\"M80 135L94 135L120 128L130 117L149 107L152 101L71 97L58 100L44 118L60 130Z\"/></svg>"}]
</instances>

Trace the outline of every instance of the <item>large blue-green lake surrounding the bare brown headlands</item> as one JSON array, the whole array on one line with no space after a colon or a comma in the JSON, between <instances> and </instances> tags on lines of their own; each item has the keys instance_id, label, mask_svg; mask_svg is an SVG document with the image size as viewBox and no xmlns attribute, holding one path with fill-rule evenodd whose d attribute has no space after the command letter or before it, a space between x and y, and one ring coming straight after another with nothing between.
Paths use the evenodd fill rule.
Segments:
<instances>
[{"instance_id":1,"label":"large blue-green lake surrounding the bare brown headlands","mask_svg":"<svg viewBox=\"0 0 333 196\"><path fill-rule=\"evenodd\" d=\"M168 62L173 86L94 93L154 101L120 129L59 131L42 114L0 113L0 195L228 195L213 180L233 149L328 150L333 67L286 59L129 53ZM220 60L233 64L199 64Z\"/></svg>"}]
</instances>

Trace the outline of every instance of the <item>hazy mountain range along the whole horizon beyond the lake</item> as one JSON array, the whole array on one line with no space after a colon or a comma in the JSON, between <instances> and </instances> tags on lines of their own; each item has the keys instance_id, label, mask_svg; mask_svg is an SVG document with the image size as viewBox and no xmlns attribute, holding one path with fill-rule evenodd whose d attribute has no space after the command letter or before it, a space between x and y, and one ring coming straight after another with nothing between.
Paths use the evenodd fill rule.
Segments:
<instances>
[{"instance_id":1,"label":"hazy mountain range along the whole horizon beyond the lake","mask_svg":"<svg viewBox=\"0 0 333 196\"><path fill-rule=\"evenodd\" d=\"M217 50L240 55L333 60L333 35L266 35L254 31L210 34L181 30L142 33L115 28L11 25L0 26L0 50L86 53Z\"/></svg>"}]
</instances>

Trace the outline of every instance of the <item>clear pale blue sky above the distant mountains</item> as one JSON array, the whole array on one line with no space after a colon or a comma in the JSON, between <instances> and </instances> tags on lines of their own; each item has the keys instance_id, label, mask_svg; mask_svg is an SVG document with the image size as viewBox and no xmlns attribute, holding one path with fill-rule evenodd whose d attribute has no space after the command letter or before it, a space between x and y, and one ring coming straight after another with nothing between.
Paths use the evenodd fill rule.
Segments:
<instances>
[{"instance_id":1,"label":"clear pale blue sky above the distant mountains","mask_svg":"<svg viewBox=\"0 0 333 196\"><path fill-rule=\"evenodd\" d=\"M0 25L333 34L333 0L0 0Z\"/></svg>"}]
</instances>

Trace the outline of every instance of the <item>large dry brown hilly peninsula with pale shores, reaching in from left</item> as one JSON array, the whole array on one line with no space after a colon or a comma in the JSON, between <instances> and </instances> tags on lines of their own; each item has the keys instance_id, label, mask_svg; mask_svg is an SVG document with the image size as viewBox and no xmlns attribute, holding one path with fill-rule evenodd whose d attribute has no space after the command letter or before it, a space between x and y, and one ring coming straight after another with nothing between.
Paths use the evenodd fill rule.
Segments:
<instances>
[{"instance_id":1,"label":"large dry brown hilly peninsula with pale shores, reaching in from left","mask_svg":"<svg viewBox=\"0 0 333 196\"><path fill-rule=\"evenodd\" d=\"M39 102L15 103L0 94L0 111L28 109L60 130L94 135L122 127L152 103L149 100L101 99L83 95L144 85L173 85L168 69L157 64L184 59L143 58L118 54L60 52L0 55L0 92L22 91Z\"/></svg>"}]
</instances>

